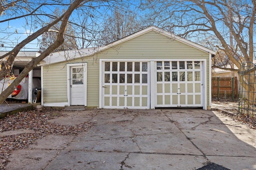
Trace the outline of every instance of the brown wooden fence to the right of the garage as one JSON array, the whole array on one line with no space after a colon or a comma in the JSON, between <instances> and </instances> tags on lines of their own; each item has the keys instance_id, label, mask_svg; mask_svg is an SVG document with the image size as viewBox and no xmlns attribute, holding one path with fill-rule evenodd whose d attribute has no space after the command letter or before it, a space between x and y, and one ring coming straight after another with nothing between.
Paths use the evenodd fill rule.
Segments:
<instances>
[{"instance_id":1,"label":"brown wooden fence to the right of the garage","mask_svg":"<svg viewBox=\"0 0 256 170\"><path fill-rule=\"evenodd\" d=\"M238 98L236 77L212 77L212 98Z\"/></svg>"}]
</instances>

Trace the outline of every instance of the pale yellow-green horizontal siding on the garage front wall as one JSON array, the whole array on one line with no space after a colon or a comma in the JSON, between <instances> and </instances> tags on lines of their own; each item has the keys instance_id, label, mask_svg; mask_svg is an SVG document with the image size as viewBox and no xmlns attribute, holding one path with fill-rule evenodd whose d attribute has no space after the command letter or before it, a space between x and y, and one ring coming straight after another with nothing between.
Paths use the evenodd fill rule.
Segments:
<instances>
[{"instance_id":1,"label":"pale yellow-green horizontal siding on the garage front wall","mask_svg":"<svg viewBox=\"0 0 256 170\"><path fill-rule=\"evenodd\" d=\"M96 57L94 56L94 59L95 58L96 61L93 60L93 57L85 57L83 59L83 61L88 62L87 106L99 106L99 59L159 59L160 61L161 59L207 59L207 82L209 82L208 53L153 31L101 51ZM81 61L82 60L79 58L72 62ZM61 73L60 79L56 79L58 80L57 86L63 86L62 90L66 88L67 75L66 67L64 67L65 64L66 61L53 64L50 65L48 72L44 70L44 90L46 88L46 92L44 91L44 102L56 101L56 96L52 95L56 92L53 92L54 85L51 84L52 81L50 81L50 79L56 79L58 77L57 75ZM54 70L58 70L58 74L56 74ZM67 102L67 89L62 91L61 96L62 99L60 100ZM207 96L209 97L209 85L207 85ZM207 106L209 106L208 98Z\"/></svg>"}]
</instances>

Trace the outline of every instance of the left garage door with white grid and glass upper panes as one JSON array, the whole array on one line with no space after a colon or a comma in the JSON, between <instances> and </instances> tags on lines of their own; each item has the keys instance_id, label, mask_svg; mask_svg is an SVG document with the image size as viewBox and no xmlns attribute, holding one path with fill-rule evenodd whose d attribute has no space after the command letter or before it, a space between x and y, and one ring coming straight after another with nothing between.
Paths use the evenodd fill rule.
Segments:
<instances>
[{"instance_id":1,"label":"left garage door with white grid and glass upper panes","mask_svg":"<svg viewBox=\"0 0 256 170\"><path fill-rule=\"evenodd\" d=\"M103 61L103 108L150 109L147 61Z\"/></svg>"}]
</instances>

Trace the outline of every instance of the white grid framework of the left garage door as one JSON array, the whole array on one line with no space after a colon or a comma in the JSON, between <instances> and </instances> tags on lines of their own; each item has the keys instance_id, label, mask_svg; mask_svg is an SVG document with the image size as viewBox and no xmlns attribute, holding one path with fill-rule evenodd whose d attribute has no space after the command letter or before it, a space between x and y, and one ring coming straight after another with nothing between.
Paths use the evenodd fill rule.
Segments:
<instances>
[{"instance_id":1,"label":"white grid framework of the left garage door","mask_svg":"<svg viewBox=\"0 0 256 170\"><path fill-rule=\"evenodd\" d=\"M125 62L128 63L129 61L125 61L125 60L121 60L121 61L104 61L104 59L100 59L100 108L105 108L105 109L124 109L124 108L128 108L128 109L150 109L150 61L138 61L140 63L140 71L135 71L135 63L136 61L132 61L132 71L129 71L128 73L132 74L132 77L134 77L135 74L140 74L140 83L120 83L120 77L117 77L117 82L112 82L112 81L108 81L108 83L104 82L104 74L107 72L108 74L110 74L110 78L112 77L113 74L118 73L118 71L112 71L112 64L110 64L110 70L109 71L105 71L105 67L104 67L104 63L105 62L117 62L117 70L120 70L120 62ZM147 71L142 71L142 63L145 62L148 65L148 70ZM120 74L125 74L125 77L127 76L127 67L125 67L124 71L120 71L122 73ZM146 74L147 75L147 83L142 83L142 75ZM125 78L127 80L127 78ZM112 85L113 86L117 86L117 94L113 94L112 93ZM109 93L105 94L104 93L104 87L103 86L107 86L110 87L109 89ZM120 92L120 86L124 86L126 89L124 92L124 94L119 93ZM132 94L127 94L128 91L127 88L128 86L131 86L131 90L130 92L132 92ZM147 94L142 94L142 87L146 86L147 87ZM134 89L135 87L139 87L139 91L140 94L135 94ZM105 101L104 101L104 97L109 97L109 105L105 105ZM112 106L112 99L116 98L120 99L123 98L124 99L124 105L119 105L119 100L117 100L116 105ZM132 98L132 105L127 106L127 101L128 98ZM142 99L146 97L147 98L147 105L146 106L142 106ZM134 103L135 98L140 98L140 102L139 103ZM137 105L137 106L136 106Z\"/></svg>"}]
</instances>

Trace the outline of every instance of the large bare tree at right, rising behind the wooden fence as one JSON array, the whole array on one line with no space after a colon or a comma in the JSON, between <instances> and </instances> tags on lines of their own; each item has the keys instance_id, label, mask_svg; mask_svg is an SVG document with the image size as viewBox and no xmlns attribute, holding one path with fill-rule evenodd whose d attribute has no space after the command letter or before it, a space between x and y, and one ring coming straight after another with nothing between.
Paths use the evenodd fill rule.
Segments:
<instances>
[{"instance_id":1,"label":"large bare tree at right, rising behind the wooden fence","mask_svg":"<svg viewBox=\"0 0 256 170\"><path fill-rule=\"evenodd\" d=\"M179 36L194 40L200 33L207 33L215 42L214 48L224 53L230 63L240 71L243 61L252 62L254 59L255 15L256 1L235 0L157 0L147 1L145 8L150 8L148 21ZM239 56L239 57L238 57ZM218 63L218 62L216 62ZM221 65L214 67L223 68ZM248 67L248 71L256 67ZM247 91L254 89L254 78L240 77ZM250 86L250 87L249 87ZM253 101L253 93L249 100Z\"/></svg>"}]
</instances>

